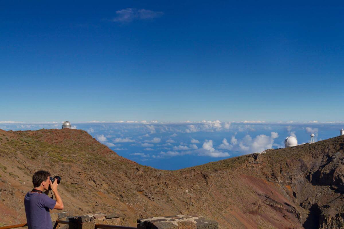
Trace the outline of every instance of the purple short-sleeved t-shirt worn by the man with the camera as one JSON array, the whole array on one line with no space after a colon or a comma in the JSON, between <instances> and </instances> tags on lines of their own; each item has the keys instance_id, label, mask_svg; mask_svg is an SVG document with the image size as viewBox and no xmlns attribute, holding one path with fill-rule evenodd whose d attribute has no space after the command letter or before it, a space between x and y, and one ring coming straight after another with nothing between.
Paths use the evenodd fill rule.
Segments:
<instances>
[{"instance_id":1,"label":"purple short-sleeved t-shirt worn by the man with the camera","mask_svg":"<svg viewBox=\"0 0 344 229\"><path fill-rule=\"evenodd\" d=\"M49 209L53 209L55 204L56 201L44 193L26 193L24 205L28 229L52 229Z\"/></svg>"}]
</instances>

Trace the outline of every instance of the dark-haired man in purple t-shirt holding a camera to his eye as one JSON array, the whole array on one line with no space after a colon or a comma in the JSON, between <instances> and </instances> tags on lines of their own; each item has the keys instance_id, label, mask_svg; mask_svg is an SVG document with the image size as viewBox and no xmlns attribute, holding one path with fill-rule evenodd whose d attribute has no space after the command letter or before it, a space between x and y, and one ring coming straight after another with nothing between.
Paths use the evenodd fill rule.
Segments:
<instances>
[{"instance_id":1,"label":"dark-haired man in purple t-shirt holding a camera to his eye","mask_svg":"<svg viewBox=\"0 0 344 229\"><path fill-rule=\"evenodd\" d=\"M57 181L51 182L50 172L40 170L33 174L32 183L33 190L24 198L28 229L52 229L49 209L63 209L62 199L57 192ZM49 185L56 201L47 195Z\"/></svg>"}]
</instances>

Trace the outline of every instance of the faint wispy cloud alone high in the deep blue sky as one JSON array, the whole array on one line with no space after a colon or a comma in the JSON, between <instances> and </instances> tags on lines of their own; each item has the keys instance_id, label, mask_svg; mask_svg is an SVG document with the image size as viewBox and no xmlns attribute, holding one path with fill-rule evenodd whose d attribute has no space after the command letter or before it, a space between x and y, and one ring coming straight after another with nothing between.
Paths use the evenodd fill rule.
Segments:
<instances>
[{"instance_id":1,"label":"faint wispy cloud alone high in the deep blue sky","mask_svg":"<svg viewBox=\"0 0 344 229\"><path fill-rule=\"evenodd\" d=\"M159 18L164 13L160 11L152 11L152 10L145 10L145 9L138 10L135 8L126 8L122 10L117 10L116 14L117 16L114 19L112 19L112 21L128 23L134 20Z\"/></svg>"}]
</instances>

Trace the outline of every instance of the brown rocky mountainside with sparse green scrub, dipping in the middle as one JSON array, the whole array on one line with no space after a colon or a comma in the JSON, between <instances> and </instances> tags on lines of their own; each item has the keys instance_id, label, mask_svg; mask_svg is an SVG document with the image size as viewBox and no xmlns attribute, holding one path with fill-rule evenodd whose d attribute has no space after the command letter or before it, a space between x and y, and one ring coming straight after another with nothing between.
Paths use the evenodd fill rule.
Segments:
<instances>
[{"instance_id":1,"label":"brown rocky mountainside with sparse green scrub, dipping in the middle","mask_svg":"<svg viewBox=\"0 0 344 229\"><path fill-rule=\"evenodd\" d=\"M66 210L137 218L197 214L220 228L344 226L344 137L177 171L118 156L83 130L0 130L2 224L25 222L32 174L60 175Z\"/></svg>"}]
</instances>

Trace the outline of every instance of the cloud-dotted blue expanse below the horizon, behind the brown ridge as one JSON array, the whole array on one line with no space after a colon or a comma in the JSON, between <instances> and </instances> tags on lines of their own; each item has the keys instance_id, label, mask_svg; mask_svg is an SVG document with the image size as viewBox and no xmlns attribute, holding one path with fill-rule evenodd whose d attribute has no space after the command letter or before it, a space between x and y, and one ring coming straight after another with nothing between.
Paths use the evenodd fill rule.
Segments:
<instances>
[{"instance_id":1,"label":"cloud-dotted blue expanse below the horizon, behind the brown ridge","mask_svg":"<svg viewBox=\"0 0 344 229\"><path fill-rule=\"evenodd\" d=\"M0 123L5 130L61 128L62 123ZM344 123L261 123L200 121L72 123L86 130L119 155L164 170L175 170L243 154L284 148L284 139L294 136L298 144L332 138Z\"/></svg>"}]
</instances>

